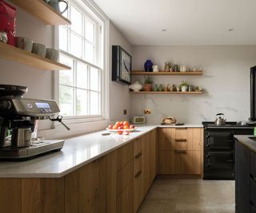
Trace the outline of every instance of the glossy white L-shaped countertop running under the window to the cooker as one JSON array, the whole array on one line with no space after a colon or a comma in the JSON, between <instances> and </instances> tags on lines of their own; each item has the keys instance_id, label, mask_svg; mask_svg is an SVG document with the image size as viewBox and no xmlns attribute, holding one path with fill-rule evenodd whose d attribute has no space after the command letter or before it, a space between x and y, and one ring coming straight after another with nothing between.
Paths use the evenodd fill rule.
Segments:
<instances>
[{"instance_id":1,"label":"glossy white L-shaped countertop running under the window to the cooker","mask_svg":"<svg viewBox=\"0 0 256 213\"><path fill-rule=\"evenodd\" d=\"M67 139L60 152L22 162L0 162L0 178L60 178L154 128L200 128L202 124L182 126L146 124L136 127L138 129L130 132L128 136L119 136L116 133L102 136L106 131L94 132Z\"/></svg>"}]
</instances>

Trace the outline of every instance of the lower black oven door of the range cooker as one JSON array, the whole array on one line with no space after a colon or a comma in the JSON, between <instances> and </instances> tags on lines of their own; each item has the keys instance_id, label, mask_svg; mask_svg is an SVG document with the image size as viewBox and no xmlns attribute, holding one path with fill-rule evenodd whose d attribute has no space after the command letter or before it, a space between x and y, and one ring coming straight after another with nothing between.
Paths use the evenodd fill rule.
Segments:
<instances>
[{"instance_id":1,"label":"lower black oven door of the range cooker","mask_svg":"<svg viewBox=\"0 0 256 213\"><path fill-rule=\"evenodd\" d=\"M205 160L208 171L234 169L234 152L207 152Z\"/></svg>"}]
</instances>

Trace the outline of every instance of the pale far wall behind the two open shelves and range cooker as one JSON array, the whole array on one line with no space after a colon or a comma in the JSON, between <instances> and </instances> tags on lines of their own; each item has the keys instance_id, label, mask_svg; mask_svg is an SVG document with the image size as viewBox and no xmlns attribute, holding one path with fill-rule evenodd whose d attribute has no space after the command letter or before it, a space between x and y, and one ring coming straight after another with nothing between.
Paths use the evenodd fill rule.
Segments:
<instances>
[{"instance_id":1,"label":"pale far wall behind the two open shelves and range cooker","mask_svg":"<svg viewBox=\"0 0 256 213\"><path fill-rule=\"evenodd\" d=\"M214 120L223 112L227 120L247 120L250 116L250 67L256 65L256 45L236 46L133 46L133 69L143 70L146 59L163 69L165 61L179 65L202 65L203 76L154 77L154 82L180 84L182 80L205 89L203 95L131 96L131 115L150 108L149 123L160 123L165 116L179 122L201 123ZM142 80L143 77L134 77Z\"/></svg>"}]
</instances>

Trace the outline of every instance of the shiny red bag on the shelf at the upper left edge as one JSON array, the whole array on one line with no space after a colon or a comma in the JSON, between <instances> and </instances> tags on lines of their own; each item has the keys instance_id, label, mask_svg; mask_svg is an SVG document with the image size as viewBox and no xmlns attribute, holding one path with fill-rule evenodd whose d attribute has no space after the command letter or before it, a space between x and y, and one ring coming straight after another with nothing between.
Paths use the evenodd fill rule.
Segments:
<instances>
[{"instance_id":1,"label":"shiny red bag on the shelf at the upper left edge","mask_svg":"<svg viewBox=\"0 0 256 213\"><path fill-rule=\"evenodd\" d=\"M6 32L7 44L15 46L16 8L3 0L0 0L0 20L0 31Z\"/></svg>"}]
</instances>

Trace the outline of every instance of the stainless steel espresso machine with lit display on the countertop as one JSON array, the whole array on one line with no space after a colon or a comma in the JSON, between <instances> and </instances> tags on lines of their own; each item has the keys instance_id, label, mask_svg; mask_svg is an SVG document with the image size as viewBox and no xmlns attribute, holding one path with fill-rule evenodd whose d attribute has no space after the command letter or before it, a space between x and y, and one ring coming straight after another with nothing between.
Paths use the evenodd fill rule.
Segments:
<instances>
[{"instance_id":1,"label":"stainless steel espresso machine with lit display on the countertop","mask_svg":"<svg viewBox=\"0 0 256 213\"><path fill-rule=\"evenodd\" d=\"M36 120L62 123L62 116L53 117L60 112L55 101L23 98L26 92L25 86L0 85L0 160L27 160L64 145L64 140L32 140Z\"/></svg>"}]
</instances>

